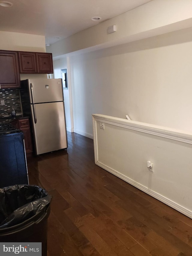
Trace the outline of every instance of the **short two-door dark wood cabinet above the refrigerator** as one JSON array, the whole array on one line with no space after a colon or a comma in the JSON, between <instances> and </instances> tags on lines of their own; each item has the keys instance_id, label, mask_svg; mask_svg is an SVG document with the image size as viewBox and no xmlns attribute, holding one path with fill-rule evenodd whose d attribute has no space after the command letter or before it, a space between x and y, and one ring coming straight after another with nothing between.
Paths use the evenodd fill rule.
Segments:
<instances>
[{"instance_id":1,"label":"short two-door dark wood cabinet above the refrigerator","mask_svg":"<svg viewBox=\"0 0 192 256\"><path fill-rule=\"evenodd\" d=\"M20 73L53 73L52 53L19 52Z\"/></svg>"}]
</instances>

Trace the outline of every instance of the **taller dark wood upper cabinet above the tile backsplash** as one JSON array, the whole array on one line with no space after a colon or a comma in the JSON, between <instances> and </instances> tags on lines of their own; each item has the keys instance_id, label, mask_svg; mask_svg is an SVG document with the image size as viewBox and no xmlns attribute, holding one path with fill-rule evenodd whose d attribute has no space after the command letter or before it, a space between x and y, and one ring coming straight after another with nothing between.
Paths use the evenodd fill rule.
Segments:
<instances>
[{"instance_id":1,"label":"taller dark wood upper cabinet above the tile backsplash","mask_svg":"<svg viewBox=\"0 0 192 256\"><path fill-rule=\"evenodd\" d=\"M0 50L0 84L1 89L20 87L17 52Z\"/></svg>"}]
</instances>

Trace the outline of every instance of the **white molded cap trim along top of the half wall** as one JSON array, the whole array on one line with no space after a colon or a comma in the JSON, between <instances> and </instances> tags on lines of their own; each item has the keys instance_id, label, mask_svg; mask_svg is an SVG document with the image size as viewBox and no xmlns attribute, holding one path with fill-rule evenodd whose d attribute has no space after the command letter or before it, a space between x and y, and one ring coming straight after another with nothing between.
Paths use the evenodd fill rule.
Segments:
<instances>
[{"instance_id":1,"label":"white molded cap trim along top of the half wall","mask_svg":"<svg viewBox=\"0 0 192 256\"><path fill-rule=\"evenodd\" d=\"M159 137L192 144L192 133L187 133L186 131L176 130L173 128L168 128L160 125L152 125L152 124L147 124L143 122L117 118L113 116L105 116L100 114L93 114L92 116L93 116L93 127L96 125L96 121L99 121L99 122L104 122L107 124L131 129L134 131L140 131L147 134L156 135Z\"/></svg>"}]
</instances>

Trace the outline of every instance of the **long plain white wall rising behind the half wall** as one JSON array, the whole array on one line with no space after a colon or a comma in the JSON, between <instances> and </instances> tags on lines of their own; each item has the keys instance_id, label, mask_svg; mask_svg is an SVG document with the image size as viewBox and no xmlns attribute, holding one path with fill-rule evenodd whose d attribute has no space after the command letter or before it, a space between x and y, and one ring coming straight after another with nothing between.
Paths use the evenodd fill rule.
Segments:
<instances>
[{"instance_id":1,"label":"long plain white wall rising behind the half wall","mask_svg":"<svg viewBox=\"0 0 192 256\"><path fill-rule=\"evenodd\" d=\"M189 28L71 57L74 131L93 113L191 131L191 54Z\"/></svg>"}]
</instances>

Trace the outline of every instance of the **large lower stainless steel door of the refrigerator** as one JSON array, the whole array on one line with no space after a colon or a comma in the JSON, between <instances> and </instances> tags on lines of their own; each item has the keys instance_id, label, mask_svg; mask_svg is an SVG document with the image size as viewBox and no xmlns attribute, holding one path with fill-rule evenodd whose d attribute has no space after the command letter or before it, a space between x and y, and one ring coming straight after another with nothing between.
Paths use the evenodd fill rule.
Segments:
<instances>
[{"instance_id":1,"label":"large lower stainless steel door of the refrigerator","mask_svg":"<svg viewBox=\"0 0 192 256\"><path fill-rule=\"evenodd\" d=\"M31 113L36 155L67 148L63 102L31 105Z\"/></svg>"}]
</instances>

